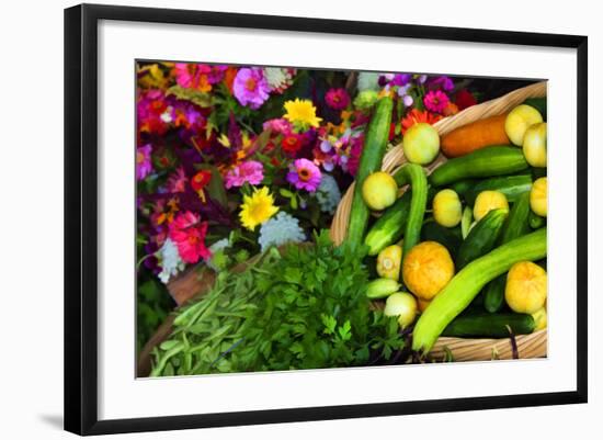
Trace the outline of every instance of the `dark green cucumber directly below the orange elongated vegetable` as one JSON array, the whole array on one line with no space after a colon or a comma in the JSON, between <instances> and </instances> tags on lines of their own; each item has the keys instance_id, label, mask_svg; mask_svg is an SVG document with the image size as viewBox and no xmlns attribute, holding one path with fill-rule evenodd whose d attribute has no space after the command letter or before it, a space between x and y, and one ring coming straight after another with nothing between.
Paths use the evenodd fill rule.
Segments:
<instances>
[{"instance_id":1,"label":"dark green cucumber directly below the orange elongated vegetable","mask_svg":"<svg viewBox=\"0 0 603 440\"><path fill-rule=\"evenodd\" d=\"M521 148L492 146L442 163L431 173L430 182L442 187L463 179L511 174L527 167Z\"/></svg>"}]
</instances>

